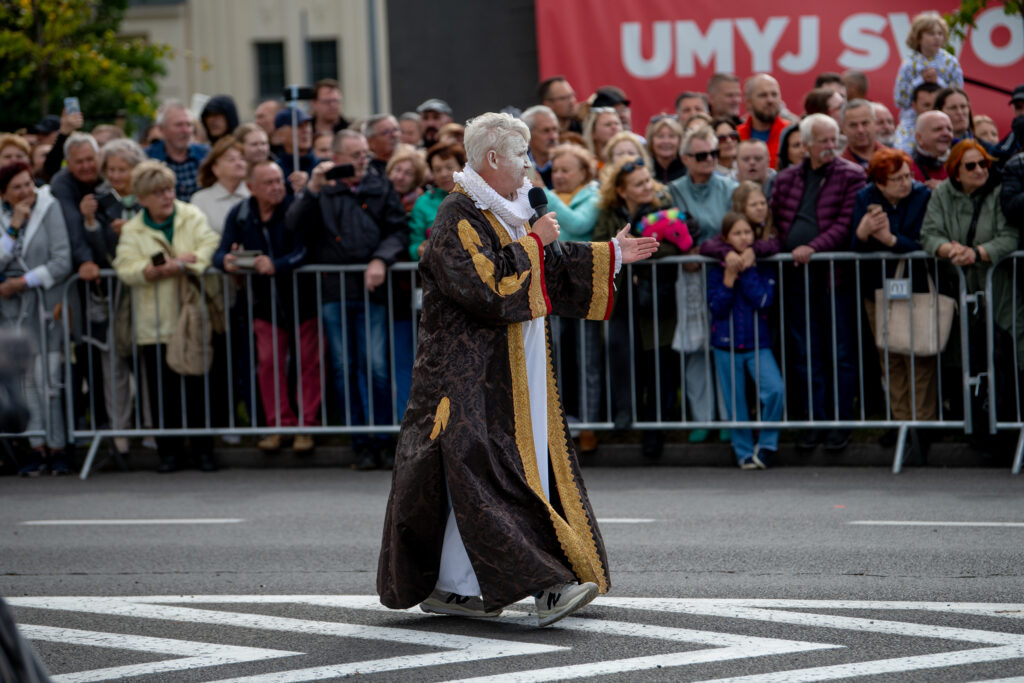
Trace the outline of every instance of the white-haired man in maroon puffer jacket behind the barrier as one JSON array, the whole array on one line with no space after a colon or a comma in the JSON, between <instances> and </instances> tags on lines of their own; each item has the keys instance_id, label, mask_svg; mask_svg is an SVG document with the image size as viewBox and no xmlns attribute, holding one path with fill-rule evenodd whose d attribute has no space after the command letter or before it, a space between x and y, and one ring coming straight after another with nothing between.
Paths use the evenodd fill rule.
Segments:
<instances>
[{"instance_id":1,"label":"white-haired man in maroon puffer jacket behind the barrier","mask_svg":"<svg viewBox=\"0 0 1024 683\"><path fill-rule=\"evenodd\" d=\"M857 393L854 291L842 286L841 268L836 269L833 279L828 263L810 263L810 259L817 252L850 248L853 205L867 178L863 169L836 154L839 124L831 117L805 117L800 122L800 136L807 157L775 176L771 196L779 251L792 252L798 266L783 269L782 283L786 348L793 350L799 395L797 410L810 420L851 420ZM826 378L834 376L834 361L838 405L833 404L833 393L825 389ZM850 432L833 429L826 434L811 429L800 437L797 447L811 451L822 441L826 451L842 451L850 442Z\"/></svg>"}]
</instances>

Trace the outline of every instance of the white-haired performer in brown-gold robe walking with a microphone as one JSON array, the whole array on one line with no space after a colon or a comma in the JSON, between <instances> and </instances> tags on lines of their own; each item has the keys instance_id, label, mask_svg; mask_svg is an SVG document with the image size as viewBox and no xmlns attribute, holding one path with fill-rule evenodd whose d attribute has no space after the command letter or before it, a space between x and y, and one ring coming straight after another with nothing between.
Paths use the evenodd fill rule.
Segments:
<instances>
[{"instance_id":1,"label":"white-haired performer in brown-gold robe walking with a microphone","mask_svg":"<svg viewBox=\"0 0 1024 683\"><path fill-rule=\"evenodd\" d=\"M656 242L624 228L554 249L554 213L528 223L528 140L506 114L469 122L468 163L423 252L420 345L377 573L388 607L487 617L536 596L543 627L608 590L547 315L605 318L618 267Z\"/></svg>"}]
</instances>

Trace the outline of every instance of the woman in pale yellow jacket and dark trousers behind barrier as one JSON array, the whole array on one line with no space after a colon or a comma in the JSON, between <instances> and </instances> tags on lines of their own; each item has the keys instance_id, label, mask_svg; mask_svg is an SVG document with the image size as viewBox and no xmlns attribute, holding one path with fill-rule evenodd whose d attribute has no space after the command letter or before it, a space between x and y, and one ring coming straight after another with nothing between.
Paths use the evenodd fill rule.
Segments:
<instances>
[{"instance_id":1,"label":"woman in pale yellow jacket and dark trousers behind barrier","mask_svg":"<svg viewBox=\"0 0 1024 683\"><path fill-rule=\"evenodd\" d=\"M121 229L114 259L118 278L131 291L133 336L147 376L151 404L159 409L157 426L162 429L182 427L182 385L185 424L206 424L203 378L183 377L171 370L166 344L177 326L178 279L201 275L220 242L202 211L174 199L174 172L161 162L146 161L135 167L132 188L143 210ZM210 281L216 282L208 279L208 288ZM160 437L157 449L158 472L178 469L184 455L181 437ZM191 437L191 452L204 471L217 468L212 437Z\"/></svg>"}]
</instances>

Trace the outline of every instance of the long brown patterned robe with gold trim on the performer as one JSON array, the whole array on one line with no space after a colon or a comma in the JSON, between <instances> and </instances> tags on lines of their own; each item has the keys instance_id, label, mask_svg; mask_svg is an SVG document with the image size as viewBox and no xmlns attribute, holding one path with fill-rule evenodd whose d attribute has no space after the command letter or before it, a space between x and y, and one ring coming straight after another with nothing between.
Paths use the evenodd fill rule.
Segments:
<instances>
[{"instance_id":1,"label":"long brown patterned robe with gold trim on the performer","mask_svg":"<svg viewBox=\"0 0 1024 683\"><path fill-rule=\"evenodd\" d=\"M445 483L487 609L555 584L609 588L608 559L555 384L547 330L549 501L534 452L522 325L555 313L607 319L612 243L513 241L456 186L423 253L423 316L398 435L377 590L388 607L437 582Z\"/></svg>"}]
</instances>

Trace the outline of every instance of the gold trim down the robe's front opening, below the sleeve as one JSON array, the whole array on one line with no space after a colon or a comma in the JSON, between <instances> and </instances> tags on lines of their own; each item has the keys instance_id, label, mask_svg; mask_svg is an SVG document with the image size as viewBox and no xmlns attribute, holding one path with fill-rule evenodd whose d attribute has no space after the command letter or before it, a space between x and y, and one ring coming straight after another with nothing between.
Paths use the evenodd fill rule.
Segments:
<instances>
[{"instance_id":1,"label":"gold trim down the robe's front opening, below the sleeve","mask_svg":"<svg viewBox=\"0 0 1024 683\"><path fill-rule=\"evenodd\" d=\"M515 421L515 441L519 450L526 483L530 489L547 504L548 515L555 528L555 536L562 552L572 565L572 570L582 582L594 582L602 593L608 590L607 577L604 573L597 545L590 528L587 512L583 507L580 492L575 485L568 462L568 451L565 442L565 432L562 429L561 411L558 408L557 389L552 391L554 372L551 365L551 348L545 339L548 360L548 452L551 454L555 484L569 520L566 521L555 511L550 501L544 495L541 485L541 474L537 468L537 455L534 443L534 424L529 413L529 386L526 380L526 351L523 346L522 324L515 323L508 327L509 365L512 373L512 407ZM554 416L552 417L554 411ZM552 428L554 425L554 429ZM557 433L557 438L552 436ZM553 443L557 443L552 447Z\"/></svg>"}]
</instances>

